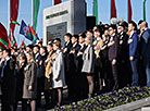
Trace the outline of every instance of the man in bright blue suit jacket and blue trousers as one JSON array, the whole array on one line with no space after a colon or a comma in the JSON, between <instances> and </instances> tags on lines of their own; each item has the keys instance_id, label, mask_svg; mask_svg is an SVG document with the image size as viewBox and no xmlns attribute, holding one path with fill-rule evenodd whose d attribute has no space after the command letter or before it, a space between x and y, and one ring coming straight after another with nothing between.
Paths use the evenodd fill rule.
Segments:
<instances>
[{"instance_id":1,"label":"man in bright blue suit jacket and blue trousers","mask_svg":"<svg viewBox=\"0 0 150 111\"><path fill-rule=\"evenodd\" d=\"M138 50L138 35L135 33L137 30L137 25L135 22L130 21L128 23L128 32L130 33L128 38L129 45L129 61L132 66L132 85L138 86L139 85L139 74L137 70L139 50Z\"/></svg>"}]
</instances>

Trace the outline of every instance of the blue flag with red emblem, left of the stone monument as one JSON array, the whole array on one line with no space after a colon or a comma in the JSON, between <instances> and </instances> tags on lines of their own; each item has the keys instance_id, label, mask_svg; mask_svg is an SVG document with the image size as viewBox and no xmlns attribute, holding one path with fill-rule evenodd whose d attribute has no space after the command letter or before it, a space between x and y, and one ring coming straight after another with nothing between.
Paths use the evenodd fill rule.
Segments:
<instances>
[{"instance_id":1,"label":"blue flag with red emblem, left of the stone monument","mask_svg":"<svg viewBox=\"0 0 150 111\"><path fill-rule=\"evenodd\" d=\"M30 41L34 40L34 38L30 34L29 26L27 26L26 23L23 20L22 20L22 23L21 23L20 34L24 35L25 38L27 38Z\"/></svg>"}]
</instances>

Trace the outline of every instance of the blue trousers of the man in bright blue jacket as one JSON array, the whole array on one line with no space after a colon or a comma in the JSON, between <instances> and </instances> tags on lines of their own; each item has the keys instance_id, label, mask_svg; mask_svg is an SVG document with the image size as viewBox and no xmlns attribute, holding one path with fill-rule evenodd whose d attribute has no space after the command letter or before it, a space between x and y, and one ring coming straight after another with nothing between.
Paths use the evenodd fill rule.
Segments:
<instances>
[{"instance_id":1,"label":"blue trousers of the man in bright blue jacket","mask_svg":"<svg viewBox=\"0 0 150 111\"><path fill-rule=\"evenodd\" d=\"M135 59L134 61L130 61L132 66L132 86L138 86L139 85L139 74L137 70L137 63L138 59Z\"/></svg>"}]
</instances>

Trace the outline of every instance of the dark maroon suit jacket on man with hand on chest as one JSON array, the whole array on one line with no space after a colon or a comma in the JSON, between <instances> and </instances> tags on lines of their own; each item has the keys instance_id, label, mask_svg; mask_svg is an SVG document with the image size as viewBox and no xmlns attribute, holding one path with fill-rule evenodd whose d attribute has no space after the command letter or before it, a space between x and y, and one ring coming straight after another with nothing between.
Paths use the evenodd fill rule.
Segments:
<instances>
[{"instance_id":1,"label":"dark maroon suit jacket on man with hand on chest","mask_svg":"<svg viewBox=\"0 0 150 111\"><path fill-rule=\"evenodd\" d=\"M113 37L114 44L109 47L109 60L113 61L113 59L117 59L117 52L118 52L118 37L115 35Z\"/></svg>"}]
</instances>

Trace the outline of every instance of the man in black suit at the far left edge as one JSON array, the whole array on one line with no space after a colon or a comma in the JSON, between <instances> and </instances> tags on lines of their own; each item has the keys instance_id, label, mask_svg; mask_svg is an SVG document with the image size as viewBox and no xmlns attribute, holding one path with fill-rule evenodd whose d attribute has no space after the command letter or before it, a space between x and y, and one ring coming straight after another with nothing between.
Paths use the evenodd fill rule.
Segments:
<instances>
[{"instance_id":1,"label":"man in black suit at the far left edge","mask_svg":"<svg viewBox=\"0 0 150 111\"><path fill-rule=\"evenodd\" d=\"M15 61L10 57L11 50L5 49L3 51L3 65L1 67L1 78L2 78L2 109L1 111L13 111L14 106L14 95L15 95Z\"/></svg>"}]
</instances>

